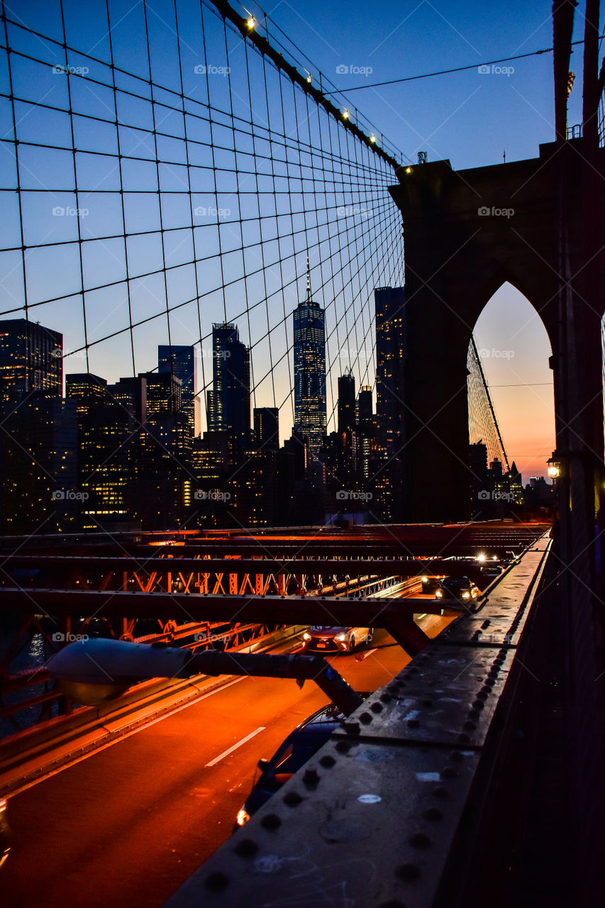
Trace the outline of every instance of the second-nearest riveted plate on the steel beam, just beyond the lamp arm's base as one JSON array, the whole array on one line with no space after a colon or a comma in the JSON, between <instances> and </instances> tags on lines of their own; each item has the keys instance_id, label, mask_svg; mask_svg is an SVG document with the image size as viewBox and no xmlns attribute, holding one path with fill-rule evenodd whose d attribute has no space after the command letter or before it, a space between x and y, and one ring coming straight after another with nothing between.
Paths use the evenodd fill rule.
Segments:
<instances>
[{"instance_id":1,"label":"second-nearest riveted plate on the steel beam, just beyond the lamp arm's base","mask_svg":"<svg viewBox=\"0 0 605 908\"><path fill-rule=\"evenodd\" d=\"M335 735L479 747L513 658L505 647L433 645Z\"/></svg>"}]
</instances>

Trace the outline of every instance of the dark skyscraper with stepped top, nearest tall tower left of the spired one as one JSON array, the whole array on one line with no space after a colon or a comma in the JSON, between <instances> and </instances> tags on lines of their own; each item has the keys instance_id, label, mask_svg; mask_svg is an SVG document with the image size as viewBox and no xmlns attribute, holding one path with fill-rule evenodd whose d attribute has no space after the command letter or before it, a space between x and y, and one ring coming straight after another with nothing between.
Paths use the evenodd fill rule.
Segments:
<instances>
[{"instance_id":1,"label":"dark skyscraper with stepped top, nearest tall tower left of the spired one","mask_svg":"<svg viewBox=\"0 0 605 908\"><path fill-rule=\"evenodd\" d=\"M213 325L213 390L206 393L208 431L226 430L241 447L250 441L250 350L236 325Z\"/></svg>"}]
</instances>

